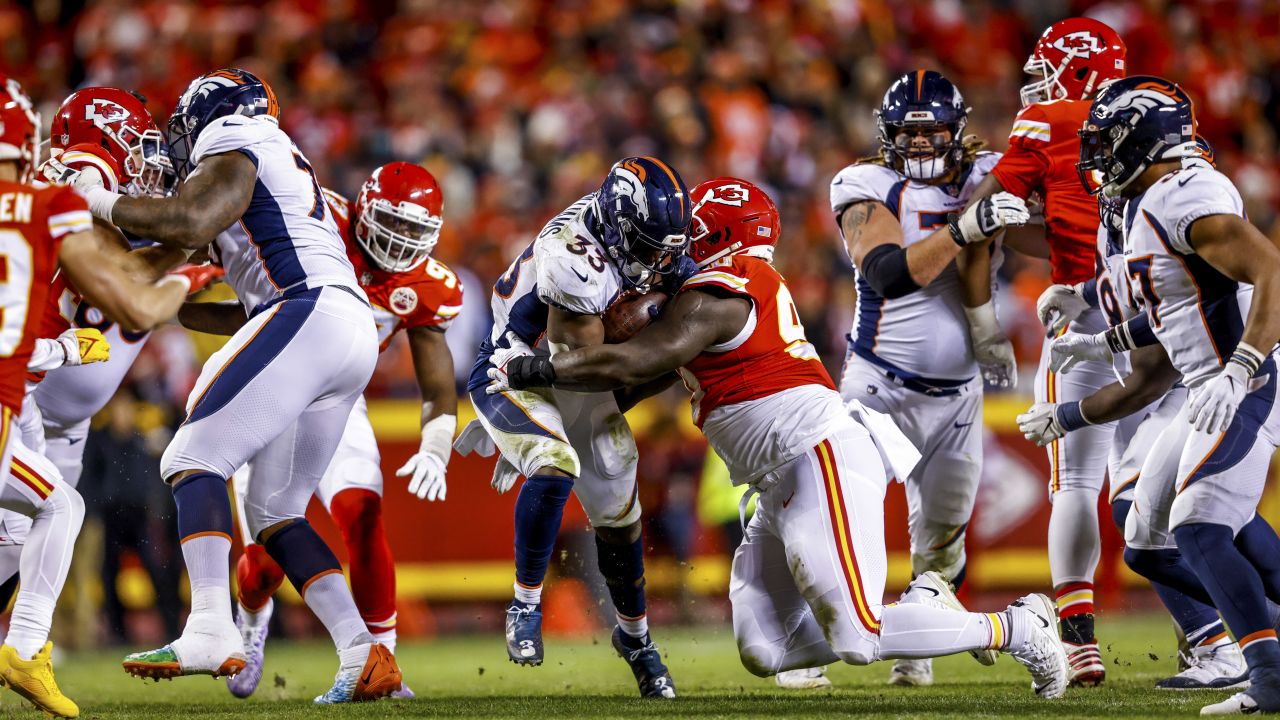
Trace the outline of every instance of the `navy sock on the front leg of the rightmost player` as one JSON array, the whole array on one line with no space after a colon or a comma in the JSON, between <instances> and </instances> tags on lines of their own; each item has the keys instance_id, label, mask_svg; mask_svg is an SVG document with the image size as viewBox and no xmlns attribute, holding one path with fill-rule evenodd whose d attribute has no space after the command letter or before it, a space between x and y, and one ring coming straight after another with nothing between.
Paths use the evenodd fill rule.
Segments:
<instances>
[{"instance_id":1,"label":"navy sock on the front leg of the rightmost player","mask_svg":"<svg viewBox=\"0 0 1280 720\"><path fill-rule=\"evenodd\" d=\"M1236 550L1231 528L1190 523L1174 530L1174 538L1240 643L1251 675L1260 669L1280 670L1280 644L1271 626L1262 578Z\"/></svg>"}]
</instances>

